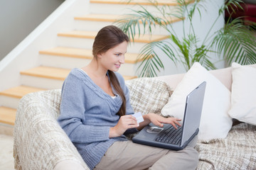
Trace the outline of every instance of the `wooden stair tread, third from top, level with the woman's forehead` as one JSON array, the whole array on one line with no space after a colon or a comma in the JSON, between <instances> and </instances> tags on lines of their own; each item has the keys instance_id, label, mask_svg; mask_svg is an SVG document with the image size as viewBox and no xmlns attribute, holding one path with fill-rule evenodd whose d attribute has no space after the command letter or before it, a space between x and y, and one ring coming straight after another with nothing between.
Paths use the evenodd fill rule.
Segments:
<instances>
[{"instance_id":1,"label":"wooden stair tread, third from top, level with the woman's forehead","mask_svg":"<svg viewBox=\"0 0 256 170\"><path fill-rule=\"evenodd\" d=\"M85 30L73 30L65 33L58 33L58 36L72 37L72 38L90 38L95 39L97 32ZM153 41L160 41L169 38L169 35L135 35L134 42L149 43Z\"/></svg>"}]
</instances>

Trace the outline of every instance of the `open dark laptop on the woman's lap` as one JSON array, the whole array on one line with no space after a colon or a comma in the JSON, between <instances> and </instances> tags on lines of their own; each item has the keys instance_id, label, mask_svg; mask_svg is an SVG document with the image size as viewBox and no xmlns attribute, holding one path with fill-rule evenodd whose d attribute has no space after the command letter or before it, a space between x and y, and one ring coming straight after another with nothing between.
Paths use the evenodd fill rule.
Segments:
<instances>
[{"instance_id":1,"label":"open dark laptop on the woman's lap","mask_svg":"<svg viewBox=\"0 0 256 170\"><path fill-rule=\"evenodd\" d=\"M181 127L176 126L178 130L170 124L160 128L150 123L132 138L132 142L173 150L185 148L198 135L205 90L206 81L203 81L186 96L183 123Z\"/></svg>"}]
</instances>

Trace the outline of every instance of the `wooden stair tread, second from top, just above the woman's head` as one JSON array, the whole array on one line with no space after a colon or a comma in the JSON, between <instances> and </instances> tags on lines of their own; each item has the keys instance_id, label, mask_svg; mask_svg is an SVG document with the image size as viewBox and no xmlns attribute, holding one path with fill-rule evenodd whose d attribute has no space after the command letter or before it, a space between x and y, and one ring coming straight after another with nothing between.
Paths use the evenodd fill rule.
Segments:
<instances>
[{"instance_id":1,"label":"wooden stair tread, second from top, just above the woman's head","mask_svg":"<svg viewBox=\"0 0 256 170\"><path fill-rule=\"evenodd\" d=\"M96 13L91 13L87 14L85 16L76 16L75 20L82 20L82 21L102 21L102 22L112 22L117 21L125 16L120 16L120 15L114 15L114 14L96 14ZM181 18L177 18L175 16L172 16L171 18L168 18L167 21L169 23L175 23L178 21L181 21ZM142 23L140 21L140 23ZM162 22L164 23L164 22Z\"/></svg>"}]
</instances>

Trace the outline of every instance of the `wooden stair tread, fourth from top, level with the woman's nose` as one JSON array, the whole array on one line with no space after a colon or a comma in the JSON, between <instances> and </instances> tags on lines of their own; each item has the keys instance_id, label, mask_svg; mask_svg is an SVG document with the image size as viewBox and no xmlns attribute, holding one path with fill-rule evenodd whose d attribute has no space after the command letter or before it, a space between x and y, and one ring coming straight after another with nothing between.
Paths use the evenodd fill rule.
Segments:
<instances>
[{"instance_id":1,"label":"wooden stair tread, fourth from top, level with the woman's nose","mask_svg":"<svg viewBox=\"0 0 256 170\"><path fill-rule=\"evenodd\" d=\"M54 47L48 50L41 50L39 52L41 55L55 55L63 57L77 57L92 60L92 50L73 48L73 47ZM137 53L127 53L125 54L125 62L135 64L141 62L142 60L137 60Z\"/></svg>"}]
</instances>

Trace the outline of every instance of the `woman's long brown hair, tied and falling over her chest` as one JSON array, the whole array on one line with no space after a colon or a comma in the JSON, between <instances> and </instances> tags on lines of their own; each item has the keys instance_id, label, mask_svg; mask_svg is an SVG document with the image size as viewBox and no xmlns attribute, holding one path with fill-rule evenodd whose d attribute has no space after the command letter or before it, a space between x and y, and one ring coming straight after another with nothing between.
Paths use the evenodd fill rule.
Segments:
<instances>
[{"instance_id":1,"label":"woman's long brown hair, tied and falling over her chest","mask_svg":"<svg viewBox=\"0 0 256 170\"><path fill-rule=\"evenodd\" d=\"M110 50L112 47L115 47L124 41L129 42L129 38L120 28L117 28L116 26L106 26L102 28L95 37L95 41L92 45L92 55L97 59L97 55L107 52L107 50ZM110 84L112 84L114 90L122 98L122 106L117 115L125 115L126 98L124 96L124 91L122 90L114 72L108 70L108 74L110 77Z\"/></svg>"}]
</instances>

